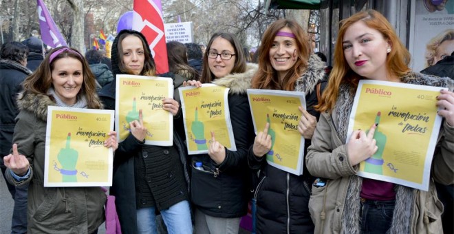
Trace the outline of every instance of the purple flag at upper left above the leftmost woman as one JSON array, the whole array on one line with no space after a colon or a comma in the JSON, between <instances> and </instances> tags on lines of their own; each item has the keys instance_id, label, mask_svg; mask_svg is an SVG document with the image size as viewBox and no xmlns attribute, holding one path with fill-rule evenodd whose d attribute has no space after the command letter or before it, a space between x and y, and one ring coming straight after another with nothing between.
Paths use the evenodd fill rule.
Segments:
<instances>
[{"instance_id":1,"label":"purple flag at upper left above the leftmost woman","mask_svg":"<svg viewBox=\"0 0 454 234\"><path fill-rule=\"evenodd\" d=\"M41 40L52 48L58 46L67 46L65 39L61 36L60 31L56 28L54 19L50 17L43 0L38 1L39 26L41 28Z\"/></svg>"}]
</instances>

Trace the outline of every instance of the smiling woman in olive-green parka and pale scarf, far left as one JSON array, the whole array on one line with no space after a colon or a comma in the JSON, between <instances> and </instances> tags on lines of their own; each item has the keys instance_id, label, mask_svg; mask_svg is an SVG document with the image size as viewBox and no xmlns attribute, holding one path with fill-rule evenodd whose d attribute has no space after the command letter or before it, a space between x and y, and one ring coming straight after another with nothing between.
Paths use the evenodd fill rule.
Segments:
<instances>
[{"instance_id":1,"label":"smiling woman in olive-green parka and pale scarf, far left","mask_svg":"<svg viewBox=\"0 0 454 234\"><path fill-rule=\"evenodd\" d=\"M95 84L85 58L69 47L52 50L23 81L14 145L4 161L10 184L28 184L28 233L97 233L105 220L106 195L100 187L43 185L47 107L100 109ZM115 131L104 146L118 148Z\"/></svg>"}]
</instances>

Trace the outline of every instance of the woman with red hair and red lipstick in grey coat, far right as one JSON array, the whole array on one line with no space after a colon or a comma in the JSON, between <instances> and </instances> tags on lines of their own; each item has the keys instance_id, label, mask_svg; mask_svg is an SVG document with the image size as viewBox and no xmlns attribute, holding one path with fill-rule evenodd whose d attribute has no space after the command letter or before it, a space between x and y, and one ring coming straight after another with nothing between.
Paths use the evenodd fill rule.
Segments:
<instances>
[{"instance_id":1,"label":"woman with red hair and red lipstick in grey coat, far right","mask_svg":"<svg viewBox=\"0 0 454 234\"><path fill-rule=\"evenodd\" d=\"M306 165L325 185L312 190L309 209L316 233L442 233L443 211L433 180L454 183L454 87L448 78L411 72L410 54L390 23L375 10L358 12L340 23L334 67ZM448 87L441 91L440 129L429 191L360 178L359 163L377 150L372 125L353 131L347 142L349 115L361 79Z\"/></svg>"}]
</instances>

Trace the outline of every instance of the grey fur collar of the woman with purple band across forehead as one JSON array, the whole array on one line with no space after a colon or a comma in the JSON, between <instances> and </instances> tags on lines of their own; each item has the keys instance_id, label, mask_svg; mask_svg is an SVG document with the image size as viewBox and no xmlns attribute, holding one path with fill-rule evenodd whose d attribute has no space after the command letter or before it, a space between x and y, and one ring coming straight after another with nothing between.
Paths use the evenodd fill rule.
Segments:
<instances>
[{"instance_id":1,"label":"grey fur collar of the woman with purple band across forehead","mask_svg":"<svg viewBox=\"0 0 454 234\"><path fill-rule=\"evenodd\" d=\"M295 83L295 91L310 94L317 83L325 78L325 63L315 54L309 56L307 69Z\"/></svg>"}]
</instances>

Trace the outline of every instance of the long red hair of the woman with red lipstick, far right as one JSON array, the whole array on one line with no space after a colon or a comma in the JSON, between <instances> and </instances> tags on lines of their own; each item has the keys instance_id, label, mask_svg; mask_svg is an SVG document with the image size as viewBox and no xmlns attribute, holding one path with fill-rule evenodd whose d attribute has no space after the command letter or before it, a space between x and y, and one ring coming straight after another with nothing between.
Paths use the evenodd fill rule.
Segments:
<instances>
[{"instance_id":1,"label":"long red hair of the woman with red lipstick, far right","mask_svg":"<svg viewBox=\"0 0 454 234\"><path fill-rule=\"evenodd\" d=\"M389 74L402 77L411 71L409 68L410 53L400 42L387 19L376 10L358 12L352 17L340 21L339 33L334 47L334 67L329 75L328 85L323 91L322 98L319 100L318 105L315 106L318 111L327 111L334 108L341 84L349 84L352 87L352 91L354 91L358 87L360 79L363 78L349 67L345 60L342 43L347 28L358 21L363 21L367 27L374 28L380 32L383 38L391 45L391 52L389 52L386 59L386 67Z\"/></svg>"}]
</instances>

